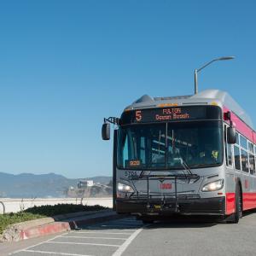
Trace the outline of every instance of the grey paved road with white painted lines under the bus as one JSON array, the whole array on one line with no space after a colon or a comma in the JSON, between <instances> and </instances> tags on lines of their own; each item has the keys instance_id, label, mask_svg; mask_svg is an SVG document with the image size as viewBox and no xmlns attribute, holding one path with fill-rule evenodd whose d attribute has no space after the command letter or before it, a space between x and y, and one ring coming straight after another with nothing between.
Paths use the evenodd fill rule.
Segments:
<instances>
[{"instance_id":1,"label":"grey paved road with white painted lines under the bus","mask_svg":"<svg viewBox=\"0 0 256 256\"><path fill-rule=\"evenodd\" d=\"M256 255L256 213L239 224L182 218L143 225L123 218L51 237L11 255Z\"/></svg>"}]
</instances>

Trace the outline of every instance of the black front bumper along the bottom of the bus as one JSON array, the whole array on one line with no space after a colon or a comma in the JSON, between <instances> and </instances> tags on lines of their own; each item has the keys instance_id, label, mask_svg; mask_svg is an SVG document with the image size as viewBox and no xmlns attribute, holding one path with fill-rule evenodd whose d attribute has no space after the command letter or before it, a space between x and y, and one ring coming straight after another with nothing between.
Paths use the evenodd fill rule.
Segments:
<instances>
[{"instance_id":1,"label":"black front bumper along the bottom of the bus","mask_svg":"<svg viewBox=\"0 0 256 256\"><path fill-rule=\"evenodd\" d=\"M133 214L154 214L154 215L219 215L225 214L225 197L200 198L200 199L183 199L176 202L160 200L116 200L116 212L133 213Z\"/></svg>"}]
</instances>

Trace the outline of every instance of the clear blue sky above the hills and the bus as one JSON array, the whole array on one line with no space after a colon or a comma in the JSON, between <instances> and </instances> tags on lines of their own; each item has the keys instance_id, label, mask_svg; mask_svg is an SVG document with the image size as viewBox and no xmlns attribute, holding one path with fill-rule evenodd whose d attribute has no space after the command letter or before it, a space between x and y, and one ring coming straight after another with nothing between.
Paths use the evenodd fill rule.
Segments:
<instances>
[{"instance_id":1,"label":"clear blue sky above the hills and the bus","mask_svg":"<svg viewBox=\"0 0 256 256\"><path fill-rule=\"evenodd\" d=\"M102 119L226 90L256 124L256 2L0 0L0 172L112 174Z\"/></svg>"}]
</instances>

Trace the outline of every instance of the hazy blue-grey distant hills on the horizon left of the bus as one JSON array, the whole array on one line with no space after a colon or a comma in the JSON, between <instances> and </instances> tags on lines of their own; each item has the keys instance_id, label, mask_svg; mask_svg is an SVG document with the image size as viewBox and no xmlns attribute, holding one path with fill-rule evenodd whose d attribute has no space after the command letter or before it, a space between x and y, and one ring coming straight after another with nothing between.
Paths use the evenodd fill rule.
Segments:
<instances>
[{"instance_id":1,"label":"hazy blue-grey distant hills on the horizon left of the bus","mask_svg":"<svg viewBox=\"0 0 256 256\"><path fill-rule=\"evenodd\" d=\"M94 183L108 184L112 177L67 178L55 173L18 175L0 172L0 197L63 197L70 186L76 187L80 179L90 179Z\"/></svg>"}]
</instances>

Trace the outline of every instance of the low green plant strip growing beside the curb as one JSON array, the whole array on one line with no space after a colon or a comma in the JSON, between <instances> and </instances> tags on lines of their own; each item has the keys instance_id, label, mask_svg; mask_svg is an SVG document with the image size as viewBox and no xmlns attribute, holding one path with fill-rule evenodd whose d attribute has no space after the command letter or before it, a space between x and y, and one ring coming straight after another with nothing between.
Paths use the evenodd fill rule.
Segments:
<instances>
[{"instance_id":1,"label":"low green plant strip growing beside the curb","mask_svg":"<svg viewBox=\"0 0 256 256\"><path fill-rule=\"evenodd\" d=\"M10 224L23 222L26 220L32 220L36 218L53 217L59 214L67 214L72 212L86 212L86 211L99 211L106 210L108 207L96 206L83 206L73 204L58 204L55 206L41 206L27 208L25 211L17 213L0 214L0 234L3 234L3 230Z\"/></svg>"}]
</instances>

